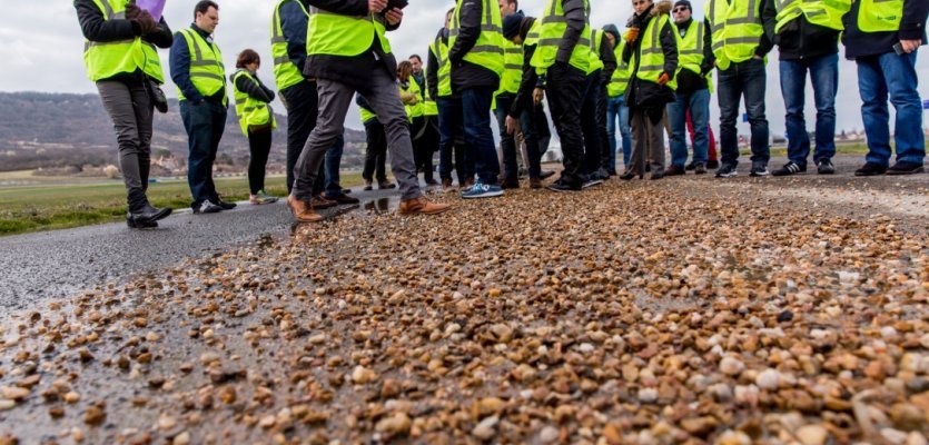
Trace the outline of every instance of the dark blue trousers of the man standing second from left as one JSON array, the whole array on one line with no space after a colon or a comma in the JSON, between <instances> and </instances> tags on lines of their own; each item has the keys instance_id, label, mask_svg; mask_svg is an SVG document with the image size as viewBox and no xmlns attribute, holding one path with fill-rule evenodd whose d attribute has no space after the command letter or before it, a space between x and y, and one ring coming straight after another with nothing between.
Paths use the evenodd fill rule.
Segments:
<instances>
[{"instance_id":1,"label":"dark blue trousers of the man standing second from left","mask_svg":"<svg viewBox=\"0 0 929 445\"><path fill-rule=\"evenodd\" d=\"M190 207L197 208L206 200L217 202L219 195L213 184L213 162L226 129L226 107L207 100L196 105L181 100L180 118L187 130L187 184L194 198Z\"/></svg>"}]
</instances>

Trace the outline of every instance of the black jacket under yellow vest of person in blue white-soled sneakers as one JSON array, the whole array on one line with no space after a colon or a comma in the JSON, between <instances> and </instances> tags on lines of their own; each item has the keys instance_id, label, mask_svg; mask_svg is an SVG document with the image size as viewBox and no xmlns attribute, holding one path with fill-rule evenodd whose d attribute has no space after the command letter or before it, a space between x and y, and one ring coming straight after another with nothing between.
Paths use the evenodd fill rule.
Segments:
<instances>
[{"instance_id":1,"label":"black jacket under yellow vest of person in blue white-soled sneakers","mask_svg":"<svg viewBox=\"0 0 929 445\"><path fill-rule=\"evenodd\" d=\"M461 20L458 21L458 37L455 44L448 48L448 61L452 63L452 89L461 91L467 88L486 87L493 90L500 88L500 76L496 72L464 60L465 55L477 43L481 37L481 23L484 18L484 7L481 0L462 0Z\"/></svg>"}]
</instances>

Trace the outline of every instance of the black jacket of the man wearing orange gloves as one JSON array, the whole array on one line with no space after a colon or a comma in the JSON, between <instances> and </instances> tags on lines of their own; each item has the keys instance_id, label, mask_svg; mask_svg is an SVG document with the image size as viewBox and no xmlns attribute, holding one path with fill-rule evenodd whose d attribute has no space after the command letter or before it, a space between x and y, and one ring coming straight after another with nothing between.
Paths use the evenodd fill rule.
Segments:
<instances>
[{"instance_id":1,"label":"black jacket of the man wearing orange gloves","mask_svg":"<svg viewBox=\"0 0 929 445\"><path fill-rule=\"evenodd\" d=\"M674 91L668 86L660 86L658 79L642 80L636 77L639 73L639 66L642 61L642 41L646 32L651 32L649 26L653 20L656 20L659 14L668 13L668 3L655 3L642 16L633 17L642 32L632 44L626 44L623 49L623 60L629 63L635 55L635 65L630 72L630 85L624 97L625 103L629 107L658 109L674 100ZM674 36L674 27L671 20L668 20L664 27L659 30L659 40L661 40L661 49L664 53L664 72L673 76L678 69L678 37Z\"/></svg>"}]
</instances>

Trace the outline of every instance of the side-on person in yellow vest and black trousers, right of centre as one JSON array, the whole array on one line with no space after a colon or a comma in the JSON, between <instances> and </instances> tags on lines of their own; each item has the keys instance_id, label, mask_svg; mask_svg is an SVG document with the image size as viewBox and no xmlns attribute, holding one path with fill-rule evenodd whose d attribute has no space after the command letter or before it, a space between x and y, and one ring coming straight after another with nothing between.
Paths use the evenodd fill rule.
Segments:
<instances>
[{"instance_id":1,"label":"side-on person in yellow vest and black trousers, right of centre","mask_svg":"<svg viewBox=\"0 0 929 445\"><path fill-rule=\"evenodd\" d=\"M584 180L584 135L581 105L591 62L590 3L586 0L548 0L538 31L532 66L544 77L536 102L547 93L552 120L561 139L564 169L548 185L552 191L579 191Z\"/></svg>"}]
</instances>

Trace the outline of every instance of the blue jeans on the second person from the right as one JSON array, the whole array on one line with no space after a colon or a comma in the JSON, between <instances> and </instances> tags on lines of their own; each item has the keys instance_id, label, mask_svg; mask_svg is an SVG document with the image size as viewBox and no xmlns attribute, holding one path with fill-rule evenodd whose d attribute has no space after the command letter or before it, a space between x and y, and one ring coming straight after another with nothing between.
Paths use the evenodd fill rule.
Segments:
<instances>
[{"instance_id":1,"label":"blue jeans on the second person from the right","mask_svg":"<svg viewBox=\"0 0 929 445\"><path fill-rule=\"evenodd\" d=\"M803 107L807 105L807 71L817 106L817 151L813 162L836 156L836 93L839 91L839 55L781 60L781 92L787 109L787 157L799 166L810 156L810 136ZM694 122L695 125L695 122Z\"/></svg>"}]
</instances>

